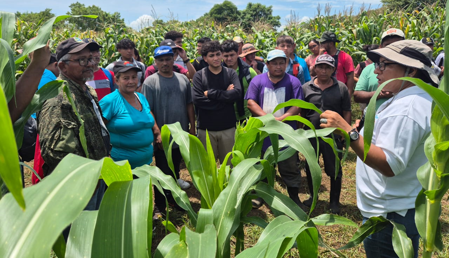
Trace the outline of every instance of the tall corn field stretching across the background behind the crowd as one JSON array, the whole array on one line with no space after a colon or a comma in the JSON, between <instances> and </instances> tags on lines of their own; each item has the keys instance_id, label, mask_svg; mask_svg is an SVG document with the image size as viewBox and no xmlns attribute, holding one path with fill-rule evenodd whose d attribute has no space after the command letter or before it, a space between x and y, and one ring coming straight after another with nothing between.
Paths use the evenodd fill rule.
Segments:
<instances>
[{"instance_id":1,"label":"tall corn field stretching across the background behind the crowd","mask_svg":"<svg viewBox=\"0 0 449 258\"><path fill-rule=\"evenodd\" d=\"M324 8L324 14L318 9L316 17L308 22L298 22L291 19L282 31L274 31L263 23L255 23L251 32L245 32L239 24L218 24L214 21L199 23L196 21L179 22L168 21L157 24L137 32L129 27L116 24L104 25L101 32L94 30L80 32L70 29L54 28L51 34L51 49L56 50L62 40L78 36L80 38L94 38L104 48L100 65L105 67L117 59L118 52L115 46L123 38L129 38L136 43L137 50L146 65L153 63L153 52L163 40L166 32L176 30L184 34L183 48L187 55L194 59L196 53L196 41L204 36L219 40L231 39L234 36L242 37L245 42L253 43L265 57L275 47L276 38L282 34L291 35L296 42L296 53L305 58L310 54L307 44L313 38L319 38L324 31L332 31L340 38L338 48L349 53L354 64L366 59L362 46L365 44L380 44L380 36L387 28L399 28L404 31L407 39L420 40L422 37L435 39L434 55L443 50L443 35L445 24L445 9L438 6L428 6L418 11L389 13L386 9L365 10L361 8L358 14L351 9L343 13L331 14L330 5ZM36 36L39 26L28 24L18 20L14 48L21 46L30 38ZM92 28L94 29L94 28ZM14 49L13 48L13 49ZM23 64L19 70L23 70Z\"/></svg>"}]
</instances>

